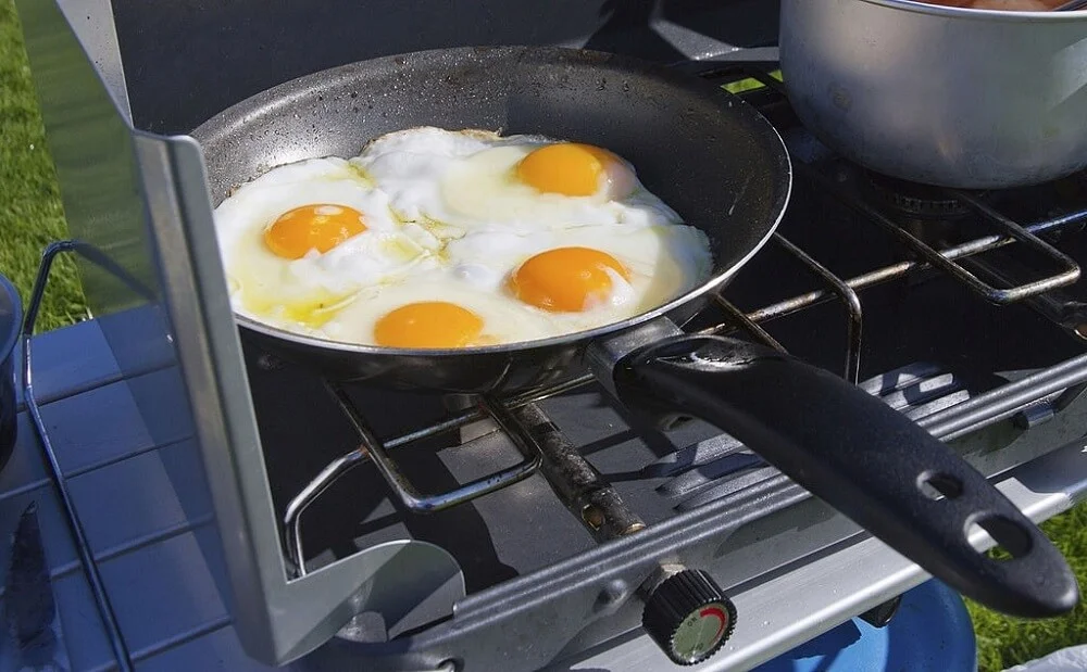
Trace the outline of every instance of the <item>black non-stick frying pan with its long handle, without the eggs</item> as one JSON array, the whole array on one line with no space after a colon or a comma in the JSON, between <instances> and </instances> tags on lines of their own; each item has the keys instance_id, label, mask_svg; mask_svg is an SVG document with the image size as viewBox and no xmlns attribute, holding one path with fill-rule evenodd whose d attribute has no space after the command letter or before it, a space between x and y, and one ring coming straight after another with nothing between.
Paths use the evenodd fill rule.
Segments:
<instances>
[{"instance_id":1,"label":"black non-stick frying pan with its long handle, without the eggs","mask_svg":"<svg viewBox=\"0 0 1087 672\"><path fill-rule=\"evenodd\" d=\"M528 343L396 350L303 337L236 316L242 335L341 380L512 392L586 367L636 417L700 417L742 441L929 573L1008 613L1078 600L1048 538L985 478L883 402L816 367L676 325L770 238L789 199L788 154L752 107L697 77L557 48L458 48L345 65L288 81L193 131L213 201L267 168L357 154L382 134L433 125L544 134L628 159L648 189L702 229L713 277L635 318ZM980 524L1014 558L966 538Z\"/></svg>"}]
</instances>

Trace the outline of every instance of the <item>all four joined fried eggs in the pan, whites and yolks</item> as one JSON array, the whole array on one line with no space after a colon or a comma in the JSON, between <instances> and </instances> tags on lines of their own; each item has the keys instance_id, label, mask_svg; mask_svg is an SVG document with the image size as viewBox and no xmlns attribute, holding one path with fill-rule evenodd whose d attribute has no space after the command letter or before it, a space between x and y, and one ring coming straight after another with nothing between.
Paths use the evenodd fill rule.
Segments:
<instances>
[{"instance_id":1,"label":"all four joined fried eggs in the pan, whites and yolks","mask_svg":"<svg viewBox=\"0 0 1087 672\"><path fill-rule=\"evenodd\" d=\"M237 313L308 335L459 348L564 335L703 283L705 234L613 152L414 128L279 166L215 210Z\"/></svg>"}]
</instances>

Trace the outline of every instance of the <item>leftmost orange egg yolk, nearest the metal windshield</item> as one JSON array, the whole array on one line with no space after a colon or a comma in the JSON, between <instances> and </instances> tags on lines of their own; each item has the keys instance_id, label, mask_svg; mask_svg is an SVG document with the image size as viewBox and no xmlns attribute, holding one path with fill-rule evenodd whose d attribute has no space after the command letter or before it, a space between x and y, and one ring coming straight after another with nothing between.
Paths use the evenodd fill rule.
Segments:
<instances>
[{"instance_id":1,"label":"leftmost orange egg yolk, nearest the metal windshield","mask_svg":"<svg viewBox=\"0 0 1087 672\"><path fill-rule=\"evenodd\" d=\"M366 230L362 213L346 205L303 205L279 215L264 229L264 244L276 256L298 259L310 250L324 254Z\"/></svg>"}]
</instances>

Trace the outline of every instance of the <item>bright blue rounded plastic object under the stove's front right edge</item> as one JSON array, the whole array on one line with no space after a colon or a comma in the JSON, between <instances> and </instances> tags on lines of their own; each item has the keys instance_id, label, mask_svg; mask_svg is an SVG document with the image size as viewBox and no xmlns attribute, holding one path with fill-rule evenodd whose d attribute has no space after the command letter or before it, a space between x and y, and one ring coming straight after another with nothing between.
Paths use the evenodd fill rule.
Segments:
<instances>
[{"instance_id":1,"label":"bright blue rounded plastic object under the stove's front right edge","mask_svg":"<svg viewBox=\"0 0 1087 672\"><path fill-rule=\"evenodd\" d=\"M755 670L973 672L977 645L962 598L932 580L902 595L898 613L885 627L853 619Z\"/></svg>"}]
</instances>

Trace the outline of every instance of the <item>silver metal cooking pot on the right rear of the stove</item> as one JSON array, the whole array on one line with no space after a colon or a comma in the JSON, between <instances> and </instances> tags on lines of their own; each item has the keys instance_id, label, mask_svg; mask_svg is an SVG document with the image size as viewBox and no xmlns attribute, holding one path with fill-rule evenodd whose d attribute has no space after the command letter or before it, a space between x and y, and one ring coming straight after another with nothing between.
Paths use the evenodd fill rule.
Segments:
<instances>
[{"instance_id":1,"label":"silver metal cooking pot on the right rear of the stove","mask_svg":"<svg viewBox=\"0 0 1087 672\"><path fill-rule=\"evenodd\" d=\"M782 0L801 122L877 173L962 189L1087 166L1087 11Z\"/></svg>"}]
</instances>

